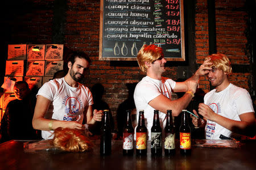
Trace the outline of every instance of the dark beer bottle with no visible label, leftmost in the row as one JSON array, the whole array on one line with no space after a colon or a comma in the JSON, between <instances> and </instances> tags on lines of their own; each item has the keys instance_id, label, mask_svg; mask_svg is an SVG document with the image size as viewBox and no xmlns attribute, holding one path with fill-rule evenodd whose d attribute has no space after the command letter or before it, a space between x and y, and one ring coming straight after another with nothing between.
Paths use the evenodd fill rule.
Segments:
<instances>
[{"instance_id":1,"label":"dark beer bottle with no visible label, leftmost in the row","mask_svg":"<svg viewBox=\"0 0 256 170\"><path fill-rule=\"evenodd\" d=\"M101 121L100 154L110 155L112 150L112 134L109 124L109 110L104 110L103 114L104 116Z\"/></svg>"}]
</instances>

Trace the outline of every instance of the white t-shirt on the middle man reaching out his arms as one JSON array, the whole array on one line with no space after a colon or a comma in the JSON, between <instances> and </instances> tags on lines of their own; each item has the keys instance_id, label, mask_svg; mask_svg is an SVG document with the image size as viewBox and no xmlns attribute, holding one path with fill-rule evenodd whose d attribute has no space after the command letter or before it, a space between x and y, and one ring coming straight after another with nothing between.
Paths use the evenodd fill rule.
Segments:
<instances>
[{"instance_id":1,"label":"white t-shirt on the middle man reaching out his arms","mask_svg":"<svg viewBox=\"0 0 256 170\"><path fill-rule=\"evenodd\" d=\"M135 87L134 102L137 109L137 122L139 120L139 111L144 110L145 125L148 131L148 140L151 140L151 128L153 125L155 110L148 103L160 94L163 94L171 100L171 92L173 91L175 85L176 82L169 78L162 77L162 80L157 80L152 79L149 76L145 76ZM166 114L159 112L160 126L162 129L166 125L165 118ZM134 138L136 137L136 128Z\"/></svg>"}]
</instances>

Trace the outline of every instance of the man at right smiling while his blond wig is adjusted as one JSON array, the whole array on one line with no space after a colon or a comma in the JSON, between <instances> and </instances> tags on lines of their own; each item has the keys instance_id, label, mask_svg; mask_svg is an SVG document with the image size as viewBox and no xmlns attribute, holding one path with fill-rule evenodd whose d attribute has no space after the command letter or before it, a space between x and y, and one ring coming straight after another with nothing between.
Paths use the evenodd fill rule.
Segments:
<instances>
[{"instance_id":1,"label":"man at right smiling while his blond wig is adjusted","mask_svg":"<svg viewBox=\"0 0 256 170\"><path fill-rule=\"evenodd\" d=\"M249 93L229 82L228 76L232 67L224 54L212 54L210 59L212 70L208 79L214 90L204 97L204 103L199 104L199 114L204 120L199 121L192 116L195 127L205 128L206 139L228 139L232 133L254 136L255 116L253 103ZM196 111L193 111L195 114Z\"/></svg>"}]
</instances>

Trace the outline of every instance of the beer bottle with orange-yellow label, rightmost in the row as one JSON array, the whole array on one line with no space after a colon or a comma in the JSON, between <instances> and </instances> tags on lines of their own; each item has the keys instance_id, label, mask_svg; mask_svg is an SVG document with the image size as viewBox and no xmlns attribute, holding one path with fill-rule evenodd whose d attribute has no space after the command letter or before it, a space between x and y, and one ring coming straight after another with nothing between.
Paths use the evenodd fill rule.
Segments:
<instances>
[{"instance_id":1,"label":"beer bottle with orange-yellow label, rightmost in the row","mask_svg":"<svg viewBox=\"0 0 256 170\"><path fill-rule=\"evenodd\" d=\"M191 128L188 125L187 110L182 110L180 125L180 154L191 154Z\"/></svg>"}]
</instances>

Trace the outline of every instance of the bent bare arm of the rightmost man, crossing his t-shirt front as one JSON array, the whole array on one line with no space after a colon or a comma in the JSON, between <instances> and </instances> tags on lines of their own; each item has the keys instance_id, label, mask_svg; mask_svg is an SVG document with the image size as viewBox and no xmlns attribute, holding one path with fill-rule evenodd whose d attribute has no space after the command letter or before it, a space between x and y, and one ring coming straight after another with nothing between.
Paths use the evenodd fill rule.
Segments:
<instances>
[{"instance_id":1,"label":"bent bare arm of the rightmost man, crossing his t-shirt front","mask_svg":"<svg viewBox=\"0 0 256 170\"><path fill-rule=\"evenodd\" d=\"M214 113L208 105L200 103L199 114L204 116L204 118L206 118L207 120L214 121L217 124L235 133L249 135L249 136L255 135L254 112L247 112L247 113L240 114L239 117L241 121L236 121L236 120L231 120L229 118L220 116L219 114Z\"/></svg>"}]
</instances>

